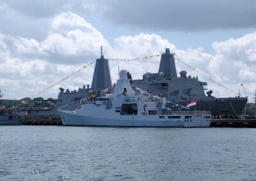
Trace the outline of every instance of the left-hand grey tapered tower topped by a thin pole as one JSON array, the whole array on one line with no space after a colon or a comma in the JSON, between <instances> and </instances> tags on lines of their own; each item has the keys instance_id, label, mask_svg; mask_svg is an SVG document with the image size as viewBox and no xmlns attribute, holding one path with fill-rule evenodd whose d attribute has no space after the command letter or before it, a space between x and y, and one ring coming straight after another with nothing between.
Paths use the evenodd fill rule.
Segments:
<instances>
[{"instance_id":1,"label":"left-hand grey tapered tower topped by a thin pole","mask_svg":"<svg viewBox=\"0 0 256 181\"><path fill-rule=\"evenodd\" d=\"M108 60L104 59L104 56L102 54L102 47L100 47L100 50L101 57L100 59L96 60L92 78L92 89L95 92L100 91L102 89L107 89L112 85Z\"/></svg>"}]
</instances>

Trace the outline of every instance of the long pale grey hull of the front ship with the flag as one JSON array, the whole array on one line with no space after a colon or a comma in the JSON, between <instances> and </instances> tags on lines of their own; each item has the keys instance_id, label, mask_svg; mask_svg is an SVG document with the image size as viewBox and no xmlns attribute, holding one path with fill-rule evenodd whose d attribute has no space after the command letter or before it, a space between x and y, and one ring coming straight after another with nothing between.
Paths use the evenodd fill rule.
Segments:
<instances>
[{"instance_id":1,"label":"long pale grey hull of the front ship with the flag","mask_svg":"<svg viewBox=\"0 0 256 181\"><path fill-rule=\"evenodd\" d=\"M202 115L193 115L193 119L184 121L184 119L168 119L159 115L145 115L140 119L136 115L124 115L122 118L91 117L85 115L76 115L74 113L60 112L61 120L64 126L125 126L125 127L209 127L211 119L202 119ZM196 117L197 116L197 117Z\"/></svg>"}]
</instances>

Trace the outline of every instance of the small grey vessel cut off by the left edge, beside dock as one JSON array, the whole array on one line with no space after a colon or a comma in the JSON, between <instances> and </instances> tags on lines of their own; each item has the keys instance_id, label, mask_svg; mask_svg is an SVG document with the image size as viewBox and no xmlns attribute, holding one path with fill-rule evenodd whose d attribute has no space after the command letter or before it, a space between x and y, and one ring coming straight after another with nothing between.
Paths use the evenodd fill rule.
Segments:
<instances>
[{"instance_id":1,"label":"small grey vessel cut off by the left edge, beside dock","mask_svg":"<svg viewBox=\"0 0 256 181\"><path fill-rule=\"evenodd\" d=\"M0 98L3 97L0 90ZM0 104L0 126L19 126L23 124L22 117L17 113L16 108L6 108Z\"/></svg>"}]
</instances>

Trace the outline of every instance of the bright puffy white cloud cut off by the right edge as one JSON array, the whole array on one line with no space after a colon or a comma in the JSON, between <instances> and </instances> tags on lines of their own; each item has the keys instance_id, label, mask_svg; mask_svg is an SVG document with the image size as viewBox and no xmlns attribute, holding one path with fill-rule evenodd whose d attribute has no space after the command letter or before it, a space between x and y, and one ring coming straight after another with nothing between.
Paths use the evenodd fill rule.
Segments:
<instances>
[{"instance_id":1,"label":"bright puffy white cloud cut off by the right edge","mask_svg":"<svg viewBox=\"0 0 256 181\"><path fill-rule=\"evenodd\" d=\"M241 38L214 42L212 48L217 52L209 69L214 66L219 76L229 76L234 82L252 83L256 69L256 32Z\"/></svg>"}]
</instances>

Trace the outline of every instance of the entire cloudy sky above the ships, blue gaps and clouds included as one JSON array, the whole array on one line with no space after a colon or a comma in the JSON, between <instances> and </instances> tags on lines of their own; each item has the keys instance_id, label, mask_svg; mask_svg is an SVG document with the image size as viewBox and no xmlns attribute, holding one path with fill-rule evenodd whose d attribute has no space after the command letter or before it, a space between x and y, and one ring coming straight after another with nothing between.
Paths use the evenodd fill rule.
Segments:
<instances>
[{"instance_id":1,"label":"entire cloudy sky above the ships, blue gaps and clouds included","mask_svg":"<svg viewBox=\"0 0 256 181\"><path fill-rule=\"evenodd\" d=\"M171 52L209 78L253 101L256 89L256 1L28 1L0 0L0 89L4 98L31 97L100 57ZM113 82L116 62L109 62ZM177 71L208 82L214 96L236 96L176 62ZM159 58L120 62L134 79L156 73ZM59 87L91 84L94 65Z\"/></svg>"}]
</instances>

